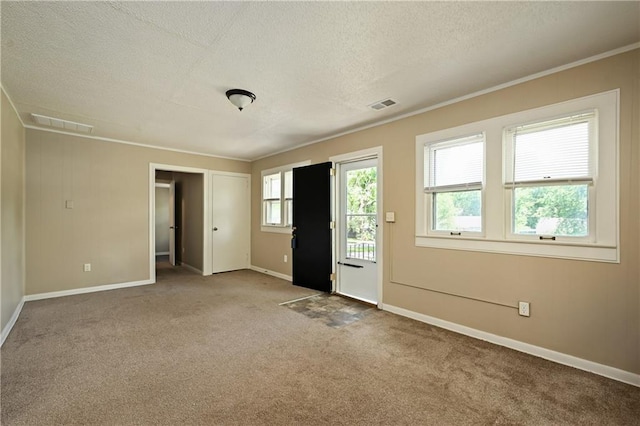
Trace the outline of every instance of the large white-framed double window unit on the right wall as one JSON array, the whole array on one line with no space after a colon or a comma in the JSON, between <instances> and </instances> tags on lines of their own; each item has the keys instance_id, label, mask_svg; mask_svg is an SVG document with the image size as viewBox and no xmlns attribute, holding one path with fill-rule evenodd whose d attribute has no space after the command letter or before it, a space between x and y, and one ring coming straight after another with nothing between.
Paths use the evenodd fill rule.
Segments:
<instances>
[{"instance_id":1,"label":"large white-framed double window unit on the right wall","mask_svg":"<svg viewBox=\"0 0 640 426\"><path fill-rule=\"evenodd\" d=\"M618 102L613 90L417 136L416 245L618 262Z\"/></svg>"}]
</instances>

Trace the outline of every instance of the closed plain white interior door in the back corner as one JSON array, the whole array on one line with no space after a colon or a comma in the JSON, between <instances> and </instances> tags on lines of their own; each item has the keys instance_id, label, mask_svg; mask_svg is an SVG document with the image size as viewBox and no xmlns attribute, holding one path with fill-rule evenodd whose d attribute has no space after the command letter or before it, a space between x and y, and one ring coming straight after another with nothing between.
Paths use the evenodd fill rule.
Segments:
<instances>
[{"instance_id":1,"label":"closed plain white interior door in the back corner","mask_svg":"<svg viewBox=\"0 0 640 426\"><path fill-rule=\"evenodd\" d=\"M249 267L251 199L249 176L211 176L212 272Z\"/></svg>"}]
</instances>

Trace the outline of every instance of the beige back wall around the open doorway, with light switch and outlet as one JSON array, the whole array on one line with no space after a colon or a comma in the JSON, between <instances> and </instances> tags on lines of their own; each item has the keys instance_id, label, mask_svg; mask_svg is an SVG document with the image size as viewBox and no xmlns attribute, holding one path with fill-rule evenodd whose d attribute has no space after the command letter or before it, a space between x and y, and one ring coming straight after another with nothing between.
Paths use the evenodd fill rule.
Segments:
<instances>
[{"instance_id":1,"label":"beige back wall around the open doorway, with light switch and outlet","mask_svg":"<svg viewBox=\"0 0 640 426\"><path fill-rule=\"evenodd\" d=\"M246 162L27 130L26 294L149 279L149 163L250 170Z\"/></svg>"}]
</instances>

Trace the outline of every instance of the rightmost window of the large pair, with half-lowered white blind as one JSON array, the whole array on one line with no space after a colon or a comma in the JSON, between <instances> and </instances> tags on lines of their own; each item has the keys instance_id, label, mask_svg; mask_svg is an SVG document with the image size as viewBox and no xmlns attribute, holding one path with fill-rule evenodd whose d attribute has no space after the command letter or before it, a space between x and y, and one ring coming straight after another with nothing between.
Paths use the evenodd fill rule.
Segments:
<instances>
[{"instance_id":1,"label":"rightmost window of the large pair, with half-lowered white blind","mask_svg":"<svg viewBox=\"0 0 640 426\"><path fill-rule=\"evenodd\" d=\"M505 130L510 234L590 240L595 222L596 111Z\"/></svg>"}]
</instances>

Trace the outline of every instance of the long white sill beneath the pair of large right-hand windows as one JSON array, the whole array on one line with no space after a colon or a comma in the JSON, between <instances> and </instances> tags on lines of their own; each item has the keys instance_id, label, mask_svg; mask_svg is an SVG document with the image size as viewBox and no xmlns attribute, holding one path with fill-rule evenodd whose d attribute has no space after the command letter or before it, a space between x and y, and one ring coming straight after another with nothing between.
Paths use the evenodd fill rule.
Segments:
<instances>
[{"instance_id":1,"label":"long white sill beneath the pair of large right-hand windows","mask_svg":"<svg viewBox=\"0 0 640 426\"><path fill-rule=\"evenodd\" d=\"M598 245L572 245L566 243L486 240L465 237L416 236L418 247L448 250L480 251L516 256L550 257L590 262L620 263L617 247Z\"/></svg>"}]
</instances>

